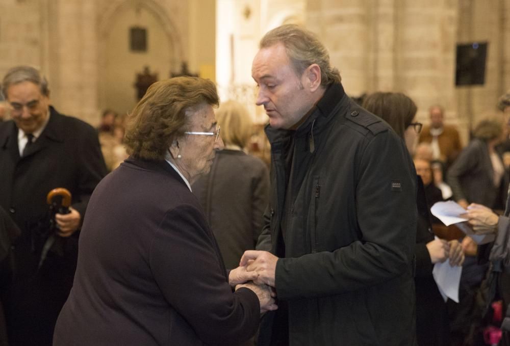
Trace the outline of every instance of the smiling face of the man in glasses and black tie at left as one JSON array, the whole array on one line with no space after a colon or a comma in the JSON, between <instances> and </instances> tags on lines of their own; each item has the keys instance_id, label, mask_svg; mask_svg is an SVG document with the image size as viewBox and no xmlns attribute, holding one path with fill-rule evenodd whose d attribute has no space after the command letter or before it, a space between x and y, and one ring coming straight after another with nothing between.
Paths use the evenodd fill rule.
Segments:
<instances>
[{"instance_id":1,"label":"smiling face of the man in glasses and black tie at left","mask_svg":"<svg viewBox=\"0 0 510 346\"><path fill-rule=\"evenodd\" d=\"M48 117L49 98L41 94L39 86L21 82L7 88L11 117L25 133L37 131Z\"/></svg>"}]
</instances>

